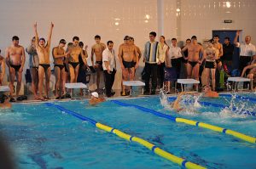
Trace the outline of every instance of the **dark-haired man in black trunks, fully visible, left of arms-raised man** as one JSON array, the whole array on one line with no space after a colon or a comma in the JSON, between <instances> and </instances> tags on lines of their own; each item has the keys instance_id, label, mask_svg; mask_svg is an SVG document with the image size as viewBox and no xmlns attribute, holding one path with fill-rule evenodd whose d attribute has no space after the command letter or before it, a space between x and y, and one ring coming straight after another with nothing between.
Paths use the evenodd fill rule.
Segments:
<instances>
[{"instance_id":1,"label":"dark-haired man in black trunks, fully visible, left of arms-raised man","mask_svg":"<svg viewBox=\"0 0 256 169\"><path fill-rule=\"evenodd\" d=\"M14 92L15 76L17 79L16 97L19 98L22 81L22 71L26 58L24 48L19 45L19 37L13 37L12 41L13 44L10 47L6 48L5 58L6 65L8 65L9 67L10 102L15 102L15 99L12 97L12 93Z\"/></svg>"}]
</instances>

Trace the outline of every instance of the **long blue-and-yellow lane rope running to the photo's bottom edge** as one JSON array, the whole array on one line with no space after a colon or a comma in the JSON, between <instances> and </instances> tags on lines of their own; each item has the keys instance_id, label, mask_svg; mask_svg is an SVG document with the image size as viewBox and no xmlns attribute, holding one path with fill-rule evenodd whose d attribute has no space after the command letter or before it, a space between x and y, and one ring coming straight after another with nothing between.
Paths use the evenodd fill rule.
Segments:
<instances>
[{"instance_id":1,"label":"long blue-and-yellow lane rope running to the photo's bottom edge","mask_svg":"<svg viewBox=\"0 0 256 169\"><path fill-rule=\"evenodd\" d=\"M148 141L144 140L143 138L137 138L135 136L131 136L125 132L121 132L119 131L118 129L115 129L113 127L108 127L102 123L99 123L97 121L94 121L84 115L80 115L79 113L76 113L74 111L71 111L71 110L67 110L65 109L64 107L60 106L60 105L57 105L57 104L51 104L51 103L45 103L47 106L49 107L55 107L59 110L61 110L62 112L65 112L69 115L73 115L77 118L79 118L80 120L82 121L89 121L93 126L99 128L99 129L102 129L106 132L111 132L113 134L115 134L116 136L118 136L119 138L123 138L125 140L128 140L130 142L135 142L137 144L141 144L143 145L144 147L150 149L152 152L154 152L154 154L156 155L160 155L161 157L165 158L166 160L168 161L172 161L173 163L176 163L178 164L179 166L182 166L183 168L188 168L188 169L206 169L206 167L204 166L200 166L198 164L195 164L193 162L190 162L190 161L186 161L184 160L183 158L180 158L176 155L172 155L171 153L163 150L163 149L160 149L159 147L157 147L156 145L154 144L151 144L149 143Z\"/></svg>"}]
</instances>

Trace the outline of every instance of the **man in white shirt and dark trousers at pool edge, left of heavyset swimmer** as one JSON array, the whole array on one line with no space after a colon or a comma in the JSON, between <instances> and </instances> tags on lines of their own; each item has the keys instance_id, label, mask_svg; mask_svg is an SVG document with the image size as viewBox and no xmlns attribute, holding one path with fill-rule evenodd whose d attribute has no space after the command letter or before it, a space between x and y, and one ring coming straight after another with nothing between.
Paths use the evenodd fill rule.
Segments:
<instances>
[{"instance_id":1,"label":"man in white shirt and dark trousers at pool edge, left of heavyset swimmer","mask_svg":"<svg viewBox=\"0 0 256 169\"><path fill-rule=\"evenodd\" d=\"M113 41L107 42L108 48L102 53L102 67L105 76L105 90L107 97L113 96L115 93L111 92L114 82L114 75L116 73L116 59L113 50Z\"/></svg>"}]
</instances>

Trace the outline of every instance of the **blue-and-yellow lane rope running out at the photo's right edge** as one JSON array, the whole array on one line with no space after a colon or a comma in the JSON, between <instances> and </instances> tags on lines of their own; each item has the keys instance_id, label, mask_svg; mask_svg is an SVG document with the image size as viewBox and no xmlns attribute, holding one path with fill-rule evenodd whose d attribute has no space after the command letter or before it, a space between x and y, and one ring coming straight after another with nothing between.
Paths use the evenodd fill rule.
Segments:
<instances>
[{"instance_id":1,"label":"blue-and-yellow lane rope running out at the photo's right edge","mask_svg":"<svg viewBox=\"0 0 256 169\"><path fill-rule=\"evenodd\" d=\"M134 107L138 110L143 110L143 112L150 113L150 114L153 114L153 115L157 115L157 116L169 119L169 120L174 121L174 122L182 122L182 123L185 123L185 124L188 124L188 125L191 125L191 126L203 127L203 128L207 128L209 130L215 131L215 132L222 132L222 133L225 133L225 134L229 134L229 135L231 135L235 138L240 138L240 139L242 139L244 141L247 141L249 143L256 144L256 138L253 138L251 136L247 136L246 134L243 134L241 132L236 132L236 131L233 131L233 130L230 130L230 129L227 129L227 128L223 128L223 127L213 126L213 125L203 123L203 122L199 122L199 121L192 121L192 120L189 120L189 119L179 118L179 117L175 117L175 116L172 116L172 115L166 115L166 114L160 113L156 110L150 110L148 108L144 108L143 106L139 106L139 105L136 105L136 104L126 104L126 103L120 102L118 100L111 100L111 102L113 102L114 104L119 104L121 106L125 106L125 107Z\"/></svg>"}]
</instances>

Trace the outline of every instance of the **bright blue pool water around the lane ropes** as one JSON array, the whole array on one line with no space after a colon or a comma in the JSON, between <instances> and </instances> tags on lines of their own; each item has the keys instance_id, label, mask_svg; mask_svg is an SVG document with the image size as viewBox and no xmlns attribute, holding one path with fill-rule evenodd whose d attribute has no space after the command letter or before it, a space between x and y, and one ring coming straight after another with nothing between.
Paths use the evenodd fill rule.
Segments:
<instances>
[{"instance_id":1,"label":"bright blue pool water around the lane ropes","mask_svg":"<svg viewBox=\"0 0 256 169\"><path fill-rule=\"evenodd\" d=\"M245 96L256 99L255 94ZM186 110L178 114L168 104L161 104L159 97L119 101L256 136L256 116L242 114L243 110L256 112L255 102L227 97L198 99L199 103L235 104L242 108L232 111L229 107L195 107L196 99L184 98ZM96 107L88 106L84 100L54 104L148 140L207 168L256 168L255 144L230 135L176 123L111 100ZM0 124L15 152L18 168L181 168L140 144L118 138L46 104L14 104L11 111L1 110Z\"/></svg>"}]
</instances>

